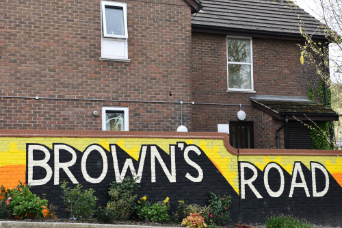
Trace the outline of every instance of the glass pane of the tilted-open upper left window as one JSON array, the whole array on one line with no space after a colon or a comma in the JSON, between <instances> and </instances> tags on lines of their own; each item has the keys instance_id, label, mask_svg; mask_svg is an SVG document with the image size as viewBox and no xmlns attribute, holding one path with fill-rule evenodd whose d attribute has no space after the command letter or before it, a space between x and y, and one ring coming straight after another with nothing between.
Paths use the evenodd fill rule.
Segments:
<instances>
[{"instance_id":1,"label":"glass pane of the tilted-open upper left window","mask_svg":"<svg viewBox=\"0 0 342 228\"><path fill-rule=\"evenodd\" d=\"M124 10L105 7L107 34L124 36Z\"/></svg>"}]
</instances>

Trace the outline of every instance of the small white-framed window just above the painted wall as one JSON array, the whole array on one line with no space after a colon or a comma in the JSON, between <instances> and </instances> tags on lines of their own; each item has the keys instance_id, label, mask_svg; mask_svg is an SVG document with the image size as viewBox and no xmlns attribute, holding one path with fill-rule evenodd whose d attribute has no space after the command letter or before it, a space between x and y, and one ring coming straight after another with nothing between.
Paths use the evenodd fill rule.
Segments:
<instances>
[{"instance_id":1,"label":"small white-framed window just above the painted wall","mask_svg":"<svg viewBox=\"0 0 342 228\"><path fill-rule=\"evenodd\" d=\"M129 108L128 107L102 107L103 131L128 131Z\"/></svg>"}]
</instances>

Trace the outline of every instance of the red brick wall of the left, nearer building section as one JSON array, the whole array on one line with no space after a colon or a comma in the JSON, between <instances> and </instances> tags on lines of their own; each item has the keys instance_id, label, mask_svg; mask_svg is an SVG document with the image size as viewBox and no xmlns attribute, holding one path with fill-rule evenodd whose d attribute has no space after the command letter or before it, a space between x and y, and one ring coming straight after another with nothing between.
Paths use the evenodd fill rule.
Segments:
<instances>
[{"instance_id":1,"label":"red brick wall of the left, nearer building section","mask_svg":"<svg viewBox=\"0 0 342 228\"><path fill-rule=\"evenodd\" d=\"M174 131L179 104L63 100L192 101L189 5L126 2L131 62L99 60L101 1L1 1L0 96L61 100L0 98L0 128L99 130L92 111L121 104L130 129Z\"/></svg>"}]
</instances>

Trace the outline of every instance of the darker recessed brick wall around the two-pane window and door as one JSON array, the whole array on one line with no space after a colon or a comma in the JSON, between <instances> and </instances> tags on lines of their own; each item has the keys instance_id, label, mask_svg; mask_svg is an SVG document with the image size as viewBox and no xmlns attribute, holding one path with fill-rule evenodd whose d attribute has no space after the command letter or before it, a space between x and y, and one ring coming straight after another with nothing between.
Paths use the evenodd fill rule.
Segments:
<instances>
[{"instance_id":1,"label":"darker recessed brick wall around the two-pane window and door","mask_svg":"<svg viewBox=\"0 0 342 228\"><path fill-rule=\"evenodd\" d=\"M298 75L302 71L298 41L253 38L253 76L257 95L306 97ZM261 111L251 107L249 94L226 92L226 36L192 34L193 99L197 102L230 105L195 105L192 115L194 131L217 131L218 123L238 121L239 104L246 112L246 121L254 121L254 147L276 148L276 129L284 121L275 121L264 113L262 129ZM245 105L245 106L244 106ZM284 148L283 129L280 147Z\"/></svg>"}]
</instances>

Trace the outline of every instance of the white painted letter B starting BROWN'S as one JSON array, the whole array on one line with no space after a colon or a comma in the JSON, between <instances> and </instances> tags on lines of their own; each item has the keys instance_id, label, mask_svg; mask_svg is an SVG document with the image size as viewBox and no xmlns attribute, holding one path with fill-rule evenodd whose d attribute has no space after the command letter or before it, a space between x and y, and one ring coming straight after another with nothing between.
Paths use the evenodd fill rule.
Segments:
<instances>
[{"instance_id":1,"label":"white painted letter B starting BROWN'S","mask_svg":"<svg viewBox=\"0 0 342 228\"><path fill-rule=\"evenodd\" d=\"M34 160L34 151L42 151L45 154L43 160ZM49 150L42 145L29 144L27 148L27 182L30 186L42 186L52 177L52 168L47 164L50 160ZM34 180L34 166L40 166L47 171L47 175L43 179Z\"/></svg>"}]
</instances>

